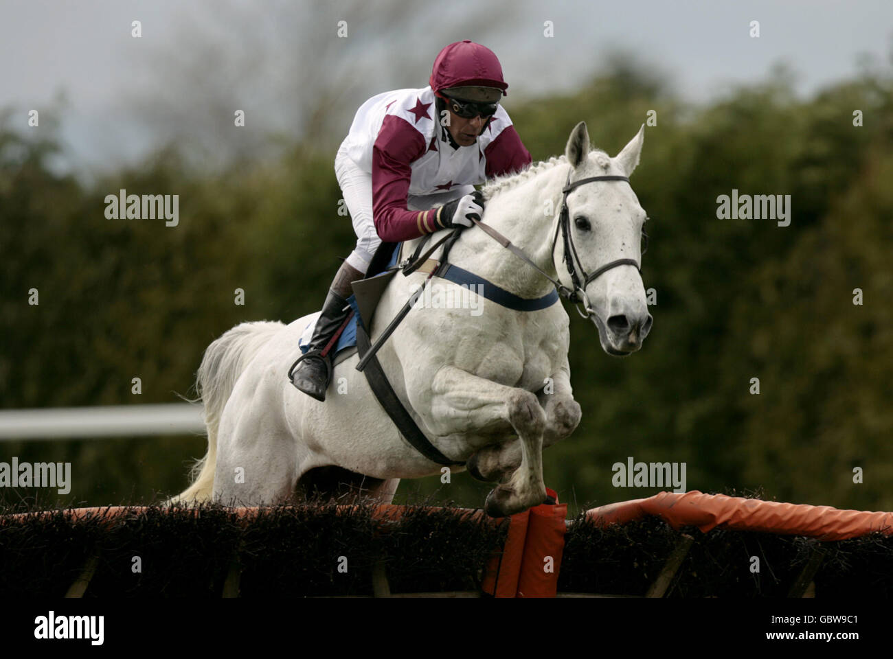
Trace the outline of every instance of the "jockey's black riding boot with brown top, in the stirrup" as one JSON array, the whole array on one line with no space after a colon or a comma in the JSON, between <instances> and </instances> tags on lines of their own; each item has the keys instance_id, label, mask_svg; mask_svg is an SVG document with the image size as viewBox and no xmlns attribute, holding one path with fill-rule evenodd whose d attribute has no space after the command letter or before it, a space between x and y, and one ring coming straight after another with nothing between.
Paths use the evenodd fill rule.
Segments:
<instances>
[{"instance_id":1,"label":"jockey's black riding boot with brown top, in the stirrup","mask_svg":"<svg viewBox=\"0 0 893 659\"><path fill-rule=\"evenodd\" d=\"M345 298L353 292L350 282L357 279L363 279L363 273L355 270L347 262L341 263L332 281L329 295L322 305L320 319L313 328L313 338L310 339L307 352L292 365L292 372L288 375L288 379L298 391L303 391L307 396L313 396L319 401L326 399L326 389L329 388L332 376L332 355L335 354L335 346L329 344L347 320L350 304Z\"/></svg>"}]
</instances>

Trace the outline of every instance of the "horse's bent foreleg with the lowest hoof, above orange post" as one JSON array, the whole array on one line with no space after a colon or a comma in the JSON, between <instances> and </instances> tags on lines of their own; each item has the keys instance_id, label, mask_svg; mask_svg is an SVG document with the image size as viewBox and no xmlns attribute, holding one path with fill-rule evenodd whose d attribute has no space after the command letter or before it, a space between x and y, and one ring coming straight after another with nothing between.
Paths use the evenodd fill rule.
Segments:
<instances>
[{"instance_id":1,"label":"horse's bent foreleg with the lowest hoof, above orange post","mask_svg":"<svg viewBox=\"0 0 893 659\"><path fill-rule=\"evenodd\" d=\"M431 384L431 426L439 436L494 430L505 423L518 434L521 462L487 497L492 517L521 513L546 500L543 482L543 432L546 412L537 396L521 388L484 380L447 366Z\"/></svg>"}]
</instances>

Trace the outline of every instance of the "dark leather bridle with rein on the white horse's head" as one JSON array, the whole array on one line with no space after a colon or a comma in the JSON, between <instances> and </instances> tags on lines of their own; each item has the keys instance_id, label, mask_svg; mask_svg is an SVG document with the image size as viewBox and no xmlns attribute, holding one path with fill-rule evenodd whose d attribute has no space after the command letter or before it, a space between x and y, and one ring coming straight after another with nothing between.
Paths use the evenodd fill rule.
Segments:
<instances>
[{"instance_id":1,"label":"dark leather bridle with rein on the white horse's head","mask_svg":"<svg viewBox=\"0 0 893 659\"><path fill-rule=\"evenodd\" d=\"M487 233L490 238L494 238L497 242L504 246L506 249L511 251L513 254L522 259L525 263L533 266L543 277L551 281L555 285L555 290L558 291L558 295L563 297L568 302L575 304L577 306L577 313L583 318L588 318L590 316L596 316L595 310L589 304L589 298L586 295L586 287L592 283L597 277L605 274L605 272L612 270L621 265L634 265L636 266L636 270L641 274L642 269L638 264L638 261L633 259L617 259L616 261L612 261L611 263L606 263L601 268L599 268L595 272L587 273L583 269L583 264L580 262L580 256L577 254L577 247L573 244L573 238L571 234L571 213L567 208L567 196L572 192L574 188L578 188L585 183L593 183L599 180L622 180L627 183L630 182L630 179L625 176L592 176L588 179L580 179L575 180L573 183L571 182L571 172L567 174L567 183L562 188L562 201L561 201L561 213L558 217L558 224L555 226L555 236L552 238L552 251L551 254L555 254L555 245L558 242L558 234L561 233L563 246L564 246L564 257L563 263L567 266L567 273L571 277L571 283L573 288L567 288L557 279L553 279L550 277L545 271L542 270L536 263L530 259L527 254L524 254L522 249L518 246L513 245L512 241L508 238L505 238L501 233L499 233L496 229L484 224L481 221L475 220L472 218L472 221L477 224L480 229L483 229L485 233ZM648 234L645 232L645 229L642 229L642 239L645 241L645 245L642 248L642 254L644 255L648 250ZM579 272L578 272L579 270ZM580 304L583 305L583 311L580 311Z\"/></svg>"}]
</instances>

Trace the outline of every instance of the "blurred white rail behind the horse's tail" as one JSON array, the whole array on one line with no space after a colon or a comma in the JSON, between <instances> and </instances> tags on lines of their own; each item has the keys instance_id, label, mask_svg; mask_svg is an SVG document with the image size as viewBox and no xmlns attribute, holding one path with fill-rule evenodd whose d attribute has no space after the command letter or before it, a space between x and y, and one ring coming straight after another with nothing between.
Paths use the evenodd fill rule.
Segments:
<instances>
[{"instance_id":1,"label":"blurred white rail behind the horse's tail","mask_svg":"<svg viewBox=\"0 0 893 659\"><path fill-rule=\"evenodd\" d=\"M201 405L107 405L0 410L0 441L204 432Z\"/></svg>"}]
</instances>

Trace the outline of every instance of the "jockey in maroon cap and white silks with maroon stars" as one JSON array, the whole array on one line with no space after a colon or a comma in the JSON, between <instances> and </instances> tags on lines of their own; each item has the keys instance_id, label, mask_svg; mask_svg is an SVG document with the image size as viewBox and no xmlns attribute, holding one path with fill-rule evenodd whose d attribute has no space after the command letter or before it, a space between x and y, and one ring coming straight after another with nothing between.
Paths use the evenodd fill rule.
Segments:
<instances>
[{"instance_id":1,"label":"jockey in maroon cap and white silks with maroon stars","mask_svg":"<svg viewBox=\"0 0 893 659\"><path fill-rule=\"evenodd\" d=\"M306 354L291 377L323 401L336 336L347 319L350 284L363 279L382 240L411 240L472 226L484 202L475 184L530 164L502 105L508 85L489 48L468 39L445 47L430 84L372 96L357 110L335 157L335 173L354 223L354 251L341 264Z\"/></svg>"}]
</instances>

